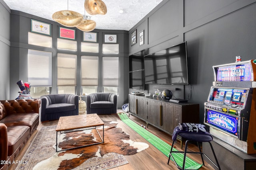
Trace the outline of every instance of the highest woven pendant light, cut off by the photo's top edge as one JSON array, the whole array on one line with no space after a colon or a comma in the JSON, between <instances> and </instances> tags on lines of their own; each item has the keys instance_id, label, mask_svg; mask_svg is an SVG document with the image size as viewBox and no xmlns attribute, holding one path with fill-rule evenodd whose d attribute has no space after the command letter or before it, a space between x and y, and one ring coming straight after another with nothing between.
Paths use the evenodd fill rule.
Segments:
<instances>
[{"instance_id":1,"label":"highest woven pendant light, cut off by the photo's top edge","mask_svg":"<svg viewBox=\"0 0 256 170\"><path fill-rule=\"evenodd\" d=\"M107 13L107 7L102 0L85 0L84 8L91 15L105 15Z\"/></svg>"}]
</instances>

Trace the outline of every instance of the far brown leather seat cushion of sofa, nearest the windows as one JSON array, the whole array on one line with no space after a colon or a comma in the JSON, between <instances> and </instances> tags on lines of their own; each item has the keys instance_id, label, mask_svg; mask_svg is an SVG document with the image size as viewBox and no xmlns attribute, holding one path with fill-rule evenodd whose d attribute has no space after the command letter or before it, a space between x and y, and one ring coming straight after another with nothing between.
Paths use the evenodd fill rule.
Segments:
<instances>
[{"instance_id":1,"label":"far brown leather seat cushion of sofa, nearest the windows","mask_svg":"<svg viewBox=\"0 0 256 170\"><path fill-rule=\"evenodd\" d=\"M34 128L35 124L39 120L38 113L13 113L0 120L0 123L4 123L7 127L10 126L28 126L30 131Z\"/></svg>"}]
</instances>

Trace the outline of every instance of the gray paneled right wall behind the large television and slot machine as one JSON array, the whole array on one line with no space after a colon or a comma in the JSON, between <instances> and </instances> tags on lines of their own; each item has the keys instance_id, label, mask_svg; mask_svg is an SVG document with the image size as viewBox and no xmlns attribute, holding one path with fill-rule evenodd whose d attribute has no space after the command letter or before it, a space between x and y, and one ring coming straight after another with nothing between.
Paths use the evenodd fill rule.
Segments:
<instances>
[{"instance_id":1,"label":"gray paneled right wall behind the large television and slot machine","mask_svg":"<svg viewBox=\"0 0 256 170\"><path fill-rule=\"evenodd\" d=\"M214 81L212 66L234 63L238 55L242 61L256 57L255 16L256 0L163 0L130 29L129 45L135 29L137 36L144 29L145 43L130 46L129 55L187 41L189 85L184 86L184 98L200 104L203 122L204 102ZM148 92L154 91L153 86Z\"/></svg>"}]
</instances>

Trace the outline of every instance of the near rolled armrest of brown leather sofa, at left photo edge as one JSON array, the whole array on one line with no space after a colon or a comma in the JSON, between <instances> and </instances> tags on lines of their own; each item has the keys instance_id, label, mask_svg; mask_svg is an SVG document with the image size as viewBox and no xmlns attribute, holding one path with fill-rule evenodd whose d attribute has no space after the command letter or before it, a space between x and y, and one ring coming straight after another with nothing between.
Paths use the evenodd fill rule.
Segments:
<instances>
[{"instance_id":1,"label":"near rolled armrest of brown leather sofa, at left photo edge","mask_svg":"<svg viewBox=\"0 0 256 170\"><path fill-rule=\"evenodd\" d=\"M0 123L0 160L7 160L8 156L8 135L7 127L4 123ZM4 164L0 164L2 169Z\"/></svg>"}]
</instances>

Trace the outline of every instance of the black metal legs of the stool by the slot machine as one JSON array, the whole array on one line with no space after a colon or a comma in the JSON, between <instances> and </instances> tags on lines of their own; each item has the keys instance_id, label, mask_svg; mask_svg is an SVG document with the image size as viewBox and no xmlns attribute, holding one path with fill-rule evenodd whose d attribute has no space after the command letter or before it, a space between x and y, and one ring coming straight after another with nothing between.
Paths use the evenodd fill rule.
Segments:
<instances>
[{"instance_id":1,"label":"black metal legs of the stool by the slot machine","mask_svg":"<svg viewBox=\"0 0 256 170\"><path fill-rule=\"evenodd\" d=\"M174 163L175 163L175 165L177 166L177 168L180 169L180 170L185 170L186 154L187 154L187 153L195 153L195 154L197 153L197 154L200 154L200 155L201 155L203 165L204 165L204 158L203 158L203 155L204 155L208 160L210 160L210 161L212 162L212 164L214 164L214 166L216 166L216 167L220 170L219 162L218 162L218 160L217 160L216 154L215 154L215 152L214 152L214 150L213 150L213 147L212 147L212 144L211 144L210 142L208 142L208 143L210 144L210 147L211 147L211 149L212 149L212 153L213 153L213 155L214 155L214 158L215 158L215 161L216 161L216 164L217 164L217 165L216 165L208 156L206 156L206 154L202 153L202 150L201 150L201 148L200 148L198 142L197 142L197 145L198 145L198 149L199 149L200 152L187 152L188 142L189 142L189 141L190 141L190 140L187 140L187 141L186 141L184 152L183 152L183 151L172 151L175 141L172 142L172 147L171 147L171 150L170 150L170 155L169 155L169 159L168 159L168 163L167 163L167 164L169 164L170 158L172 157L172 160L174 161ZM180 167L180 166L176 163L176 161L174 160L174 157L172 156L172 153L184 153L184 158L183 158L183 165L182 165L182 167ZM205 165L204 165L204 166L205 166Z\"/></svg>"}]
</instances>

